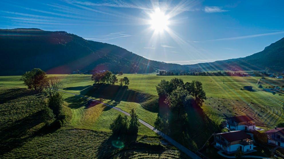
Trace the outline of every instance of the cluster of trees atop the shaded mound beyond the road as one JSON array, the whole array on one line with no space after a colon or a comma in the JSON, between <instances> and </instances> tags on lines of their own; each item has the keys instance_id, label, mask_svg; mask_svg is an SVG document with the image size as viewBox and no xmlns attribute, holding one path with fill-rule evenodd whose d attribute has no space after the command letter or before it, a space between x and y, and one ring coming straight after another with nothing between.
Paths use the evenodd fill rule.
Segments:
<instances>
[{"instance_id":1,"label":"cluster of trees atop the shaded mound beyond the road","mask_svg":"<svg viewBox=\"0 0 284 159\"><path fill-rule=\"evenodd\" d=\"M117 71L118 72L118 71ZM123 73L120 71L119 75L122 75ZM111 73L111 71L105 71L103 73L96 73L92 75L91 77L92 81L94 83L105 83L105 84L115 84L118 82L118 79L115 74ZM127 77L123 77L122 79L119 79L120 85L123 86L126 84L129 84L129 79Z\"/></svg>"}]
</instances>

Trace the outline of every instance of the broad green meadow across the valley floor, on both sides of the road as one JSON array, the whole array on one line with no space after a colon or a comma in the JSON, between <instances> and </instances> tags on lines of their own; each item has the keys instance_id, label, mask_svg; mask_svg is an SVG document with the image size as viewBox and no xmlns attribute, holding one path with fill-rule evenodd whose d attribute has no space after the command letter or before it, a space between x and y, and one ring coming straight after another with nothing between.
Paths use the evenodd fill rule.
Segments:
<instances>
[{"instance_id":1,"label":"broad green meadow across the valley floor, on both sides of the road","mask_svg":"<svg viewBox=\"0 0 284 159\"><path fill-rule=\"evenodd\" d=\"M117 86L92 86L91 75L49 75L58 76L63 82L62 90L88 96L104 103L121 108L126 112L135 109L139 118L168 134L191 150L200 149L210 135L221 131L222 118L247 114L253 117L258 126L273 128L284 123L282 103L284 96L273 95L258 88L282 86L281 79L261 79L261 77L214 77L214 76L157 76L155 74L124 74L118 79L128 77L128 89ZM184 82L199 80L203 84L207 100L201 108L184 109L183 121L176 121L175 112L167 107L157 107L158 96L155 86L162 80L181 78ZM19 81L20 76L0 77L0 89L11 87L26 88ZM243 86L253 86L254 91L243 90ZM68 130L90 130L94 133L110 133L110 123L120 112L109 109L102 104L89 105L85 98L63 93L66 114L69 114L66 126L61 132ZM61 133L60 132L60 133ZM140 126L139 136L158 136L145 126ZM33 139L36 141L37 139ZM29 141L32 142L32 141ZM26 148L26 147L25 147ZM168 151L168 150L167 150ZM176 150L174 150L176 151ZM137 152L139 153L139 152ZM141 152L142 153L142 152ZM155 152L153 152L155 155ZM131 154L134 155L134 154Z\"/></svg>"}]
</instances>

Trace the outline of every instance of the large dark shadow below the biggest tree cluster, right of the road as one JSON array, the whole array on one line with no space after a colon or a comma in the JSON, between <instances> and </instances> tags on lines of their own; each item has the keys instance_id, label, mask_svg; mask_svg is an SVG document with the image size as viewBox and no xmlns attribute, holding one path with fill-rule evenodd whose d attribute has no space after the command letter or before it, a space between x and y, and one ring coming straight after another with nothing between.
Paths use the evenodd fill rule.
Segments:
<instances>
[{"instance_id":1,"label":"large dark shadow below the biggest tree cluster, right of the road","mask_svg":"<svg viewBox=\"0 0 284 159\"><path fill-rule=\"evenodd\" d=\"M221 130L200 106L192 104L183 108L178 119L178 113L172 111L163 100L159 99L159 113L154 123L155 127L180 144L198 150L211 134Z\"/></svg>"}]
</instances>

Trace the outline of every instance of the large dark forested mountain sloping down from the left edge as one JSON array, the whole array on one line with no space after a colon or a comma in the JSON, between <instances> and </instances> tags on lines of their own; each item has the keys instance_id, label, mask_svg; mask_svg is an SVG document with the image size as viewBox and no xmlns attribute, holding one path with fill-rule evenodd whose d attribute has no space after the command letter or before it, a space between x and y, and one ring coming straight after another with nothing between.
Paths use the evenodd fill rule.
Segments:
<instances>
[{"instance_id":1,"label":"large dark forested mountain sloping down from the left edge","mask_svg":"<svg viewBox=\"0 0 284 159\"><path fill-rule=\"evenodd\" d=\"M85 40L65 31L0 29L0 76L22 75L40 68L50 74L110 70L152 73L187 66L145 59L121 47Z\"/></svg>"}]
</instances>

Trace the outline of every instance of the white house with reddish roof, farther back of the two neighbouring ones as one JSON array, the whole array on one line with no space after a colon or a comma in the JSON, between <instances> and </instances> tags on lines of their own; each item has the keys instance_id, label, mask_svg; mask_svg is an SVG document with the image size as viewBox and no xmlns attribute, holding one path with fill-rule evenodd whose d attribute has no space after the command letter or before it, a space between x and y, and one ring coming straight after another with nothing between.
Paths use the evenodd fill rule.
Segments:
<instances>
[{"instance_id":1,"label":"white house with reddish roof, farther back of the two neighbouring ones","mask_svg":"<svg viewBox=\"0 0 284 159\"><path fill-rule=\"evenodd\" d=\"M227 123L227 128L230 130L246 130L246 131L254 131L255 130L255 122L252 122L254 119L247 116L233 116L224 118Z\"/></svg>"}]
</instances>

